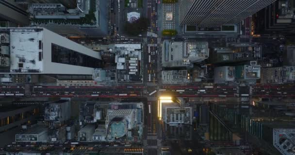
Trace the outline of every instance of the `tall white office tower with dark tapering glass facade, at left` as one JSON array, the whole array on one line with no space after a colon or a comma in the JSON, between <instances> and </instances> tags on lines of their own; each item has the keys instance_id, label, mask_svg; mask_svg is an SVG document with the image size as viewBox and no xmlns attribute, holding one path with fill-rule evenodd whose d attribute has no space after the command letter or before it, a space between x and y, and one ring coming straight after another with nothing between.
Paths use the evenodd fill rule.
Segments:
<instances>
[{"instance_id":1,"label":"tall white office tower with dark tapering glass facade, at left","mask_svg":"<svg viewBox=\"0 0 295 155\"><path fill-rule=\"evenodd\" d=\"M92 75L102 67L98 52L44 28L2 28L0 38L2 74Z\"/></svg>"}]
</instances>

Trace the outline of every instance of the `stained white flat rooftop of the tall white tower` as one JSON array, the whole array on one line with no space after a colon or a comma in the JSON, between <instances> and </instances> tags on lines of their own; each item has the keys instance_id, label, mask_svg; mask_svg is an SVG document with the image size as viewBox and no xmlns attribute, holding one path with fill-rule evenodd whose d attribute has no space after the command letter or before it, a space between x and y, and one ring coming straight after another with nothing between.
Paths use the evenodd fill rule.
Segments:
<instances>
[{"instance_id":1,"label":"stained white flat rooftop of the tall white tower","mask_svg":"<svg viewBox=\"0 0 295 155\"><path fill-rule=\"evenodd\" d=\"M43 42L43 31L10 30L10 70L16 72L29 72L35 70L36 73L43 72L43 56L39 61L39 40ZM42 54L42 53L41 53Z\"/></svg>"}]
</instances>

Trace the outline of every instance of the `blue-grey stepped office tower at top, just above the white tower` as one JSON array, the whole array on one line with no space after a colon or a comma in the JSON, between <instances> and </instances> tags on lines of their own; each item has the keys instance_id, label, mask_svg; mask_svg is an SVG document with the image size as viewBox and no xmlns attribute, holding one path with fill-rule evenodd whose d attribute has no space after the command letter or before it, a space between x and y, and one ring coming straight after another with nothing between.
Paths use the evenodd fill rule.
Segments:
<instances>
[{"instance_id":1,"label":"blue-grey stepped office tower at top, just above the white tower","mask_svg":"<svg viewBox=\"0 0 295 155\"><path fill-rule=\"evenodd\" d=\"M44 27L65 36L106 36L107 0L77 0L74 9L62 3L32 3L31 26Z\"/></svg>"}]
</instances>

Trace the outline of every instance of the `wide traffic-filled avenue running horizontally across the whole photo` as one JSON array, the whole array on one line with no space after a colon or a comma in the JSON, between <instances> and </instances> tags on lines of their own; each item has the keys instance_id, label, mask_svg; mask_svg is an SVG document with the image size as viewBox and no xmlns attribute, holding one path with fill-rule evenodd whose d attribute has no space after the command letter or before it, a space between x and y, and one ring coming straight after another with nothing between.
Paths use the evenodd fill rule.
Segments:
<instances>
[{"instance_id":1,"label":"wide traffic-filled avenue running horizontally across the whole photo","mask_svg":"<svg viewBox=\"0 0 295 155\"><path fill-rule=\"evenodd\" d=\"M118 86L118 87L90 87L90 86L31 86L29 92L25 93L24 86L1 86L0 96L90 96L90 97L143 97L144 86ZM149 89L159 94L170 94L179 97L231 97L241 95L242 90L247 94L251 92L253 97L287 97L295 96L294 84L283 85L256 85L250 88L240 87L241 92L234 86L215 85L213 88L206 86L158 86ZM153 95L152 95L153 96Z\"/></svg>"}]
</instances>

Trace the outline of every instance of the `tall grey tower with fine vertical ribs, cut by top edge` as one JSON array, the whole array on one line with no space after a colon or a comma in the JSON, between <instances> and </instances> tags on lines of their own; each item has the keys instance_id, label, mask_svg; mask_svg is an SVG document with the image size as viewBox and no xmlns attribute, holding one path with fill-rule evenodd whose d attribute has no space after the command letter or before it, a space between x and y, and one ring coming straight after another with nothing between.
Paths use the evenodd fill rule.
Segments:
<instances>
[{"instance_id":1,"label":"tall grey tower with fine vertical ribs, cut by top edge","mask_svg":"<svg viewBox=\"0 0 295 155\"><path fill-rule=\"evenodd\" d=\"M276 0L180 0L180 25L236 24Z\"/></svg>"}]
</instances>

